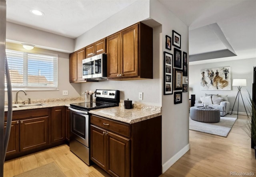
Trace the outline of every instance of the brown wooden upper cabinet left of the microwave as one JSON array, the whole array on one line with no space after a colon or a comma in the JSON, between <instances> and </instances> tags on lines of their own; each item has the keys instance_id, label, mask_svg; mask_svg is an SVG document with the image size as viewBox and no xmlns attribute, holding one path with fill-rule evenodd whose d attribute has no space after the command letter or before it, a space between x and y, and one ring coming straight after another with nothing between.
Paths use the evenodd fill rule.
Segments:
<instances>
[{"instance_id":1,"label":"brown wooden upper cabinet left of the microwave","mask_svg":"<svg viewBox=\"0 0 256 177\"><path fill-rule=\"evenodd\" d=\"M85 58L85 48L69 55L69 82L84 82L82 75L82 60Z\"/></svg>"}]
</instances>

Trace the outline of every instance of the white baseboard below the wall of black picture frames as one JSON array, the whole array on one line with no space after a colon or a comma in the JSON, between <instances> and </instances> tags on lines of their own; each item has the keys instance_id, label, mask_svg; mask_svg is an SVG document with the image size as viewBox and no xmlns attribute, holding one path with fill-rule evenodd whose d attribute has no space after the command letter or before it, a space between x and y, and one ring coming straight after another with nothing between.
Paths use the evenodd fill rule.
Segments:
<instances>
[{"instance_id":1,"label":"white baseboard below the wall of black picture frames","mask_svg":"<svg viewBox=\"0 0 256 177\"><path fill-rule=\"evenodd\" d=\"M172 158L170 158L164 165L162 165L162 173L166 172L180 157L182 157L190 149L190 143L178 151Z\"/></svg>"}]
</instances>

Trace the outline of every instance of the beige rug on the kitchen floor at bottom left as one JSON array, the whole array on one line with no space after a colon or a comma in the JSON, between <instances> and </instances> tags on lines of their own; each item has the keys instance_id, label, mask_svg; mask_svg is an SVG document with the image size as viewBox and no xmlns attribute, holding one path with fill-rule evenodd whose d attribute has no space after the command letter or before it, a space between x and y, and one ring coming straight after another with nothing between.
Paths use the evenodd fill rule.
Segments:
<instances>
[{"instance_id":1,"label":"beige rug on the kitchen floor at bottom left","mask_svg":"<svg viewBox=\"0 0 256 177\"><path fill-rule=\"evenodd\" d=\"M14 177L66 177L66 175L54 162L52 162L19 175L15 175Z\"/></svg>"}]
</instances>

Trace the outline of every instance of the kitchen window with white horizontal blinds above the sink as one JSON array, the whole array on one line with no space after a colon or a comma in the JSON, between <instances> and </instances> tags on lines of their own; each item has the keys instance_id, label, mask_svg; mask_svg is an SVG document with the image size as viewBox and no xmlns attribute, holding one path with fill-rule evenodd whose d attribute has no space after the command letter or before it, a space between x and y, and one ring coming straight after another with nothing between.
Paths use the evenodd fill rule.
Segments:
<instances>
[{"instance_id":1,"label":"kitchen window with white horizontal blinds above the sink","mask_svg":"<svg viewBox=\"0 0 256 177\"><path fill-rule=\"evenodd\" d=\"M57 89L57 56L14 50L6 56L13 89Z\"/></svg>"}]
</instances>

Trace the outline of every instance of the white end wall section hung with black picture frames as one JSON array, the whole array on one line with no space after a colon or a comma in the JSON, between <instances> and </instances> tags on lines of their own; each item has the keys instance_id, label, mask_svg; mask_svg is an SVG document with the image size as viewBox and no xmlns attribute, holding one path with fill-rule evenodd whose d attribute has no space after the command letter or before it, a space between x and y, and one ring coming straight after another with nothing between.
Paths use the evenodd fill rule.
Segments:
<instances>
[{"instance_id":1,"label":"white end wall section hung with black picture frames","mask_svg":"<svg viewBox=\"0 0 256 177\"><path fill-rule=\"evenodd\" d=\"M165 49L165 35L172 36L172 30L178 32L181 35L181 50L188 53L188 26L158 1L150 1L150 18L162 24L162 50L159 54L162 77L163 52L174 54L173 46L171 51ZM161 81L163 85L163 79ZM162 93L163 172L189 149L188 114L188 92L182 93L182 103L176 105L174 105L174 95L163 95Z\"/></svg>"}]
</instances>

